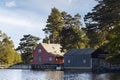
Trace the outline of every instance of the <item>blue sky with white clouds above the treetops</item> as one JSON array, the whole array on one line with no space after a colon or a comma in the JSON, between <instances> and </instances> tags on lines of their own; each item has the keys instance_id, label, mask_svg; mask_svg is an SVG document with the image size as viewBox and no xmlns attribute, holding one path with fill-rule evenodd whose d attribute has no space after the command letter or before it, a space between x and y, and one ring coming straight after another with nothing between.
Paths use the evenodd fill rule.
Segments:
<instances>
[{"instance_id":1,"label":"blue sky with white clouds above the treetops","mask_svg":"<svg viewBox=\"0 0 120 80\"><path fill-rule=\"evenodd\" d=\"M83 17L97 4L95 0L0 0L0 30L18 46L23 35L32 34L45 37L45 28L51 9L56 7L72 16L79 13ZM40 41L40 42L41 42Z\"/></svg>"}]
</instances>

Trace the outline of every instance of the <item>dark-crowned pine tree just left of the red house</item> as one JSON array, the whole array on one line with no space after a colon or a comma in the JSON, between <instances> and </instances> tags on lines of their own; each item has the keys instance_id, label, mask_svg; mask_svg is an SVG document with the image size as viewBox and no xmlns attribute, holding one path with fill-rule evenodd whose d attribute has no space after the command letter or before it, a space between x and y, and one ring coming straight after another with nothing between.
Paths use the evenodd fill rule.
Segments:
<instances>
[{"instance_id":1,"label":"dark-crowned pine tree just left of the red house","mask_svg":"<svg viewBox=\"0 0 120 80\"><path fill-rule=\"evenodd\" d=\"M32 53L37 46L37 41L39 41L39 38L31 34L23 35L23 38L20 39L16 50L20 51L23 63L28 64L32 60Z\"/></svg>"}]
</instances>

